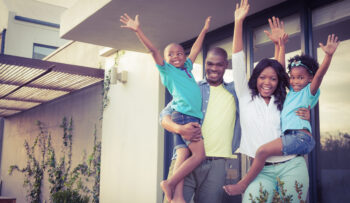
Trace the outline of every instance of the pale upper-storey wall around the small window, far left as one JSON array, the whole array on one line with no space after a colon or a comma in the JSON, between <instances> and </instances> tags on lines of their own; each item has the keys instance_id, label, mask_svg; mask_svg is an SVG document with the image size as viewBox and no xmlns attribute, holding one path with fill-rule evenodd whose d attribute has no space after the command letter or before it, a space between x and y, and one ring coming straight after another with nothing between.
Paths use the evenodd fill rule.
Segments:
<instances>
[{"instance_id":1,"label":"pale upper-storey wall around the small window, far left","mask_svg":"<svg viewBox=\"0 0 350 203\"><path fill-rule=\"evenodd\" d=\"M67 40L60 39L59 29L15 20L10 12L5 39L5 54L32 58L33 44L60 47Z\"/></svg>"}]
</instances>

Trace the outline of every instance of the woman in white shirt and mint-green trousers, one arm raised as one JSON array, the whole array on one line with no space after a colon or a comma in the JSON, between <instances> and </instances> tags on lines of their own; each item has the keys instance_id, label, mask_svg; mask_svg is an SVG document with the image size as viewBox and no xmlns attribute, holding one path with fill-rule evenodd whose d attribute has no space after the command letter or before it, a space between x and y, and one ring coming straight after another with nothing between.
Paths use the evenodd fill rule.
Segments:
<instances>
[{"instance_id":1,"label":"woman in white shirt and mint-green trousers, one arm raised","mask_svg":"<svg viewBox=\"0 0 350 203\"><path fill-rule=\"evenodd\" d=\"M235 29L232 47L232 65L235 88L239 99L242 138L240 152L254 158L257 149L281 135L280 113L286 97L288 75L280 63L263 59L255 67L249 82L246 79L243 53L242 27L249 10L248 0L236 6ZM284 183L292 202L299 202L295 190L296 181L303 184L301 198L306 199L309 176L303 157L296 155L274 156L266 160L260 174L244 192L243 202L250 202L250 195L259 197L260 185L268 192L267 202L272 201L277 179ZM229 186L224 187L230 194Z\"/></svg>"}]
</instances>

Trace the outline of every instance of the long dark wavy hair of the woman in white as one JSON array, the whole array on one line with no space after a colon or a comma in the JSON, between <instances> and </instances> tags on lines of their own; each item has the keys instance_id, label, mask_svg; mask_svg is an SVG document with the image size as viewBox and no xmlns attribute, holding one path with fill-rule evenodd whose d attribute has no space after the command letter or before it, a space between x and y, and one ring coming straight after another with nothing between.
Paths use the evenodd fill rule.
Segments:
<instances>
[{"instance_id":1,"label":"long dark wavy hair of the woman in white","mask_svg":"<svg viewBox=\"0 0 350 203\"><path fill-rule=\"evenodd\" d=\"M278 110L282 111L283 102L286 99L287 94L286 88L289 88L289 77L283 66L276 60L265 58L255 66L253 74L250 76L248 82L248 86L252 90L252 99L254 99L255 96L259 95L257 87L258 77L260 76L261 72L267 67L273 68L277 74L278 83L273 95L275 96L275 104L277 105Z\"/></svg>"}]
</instances>

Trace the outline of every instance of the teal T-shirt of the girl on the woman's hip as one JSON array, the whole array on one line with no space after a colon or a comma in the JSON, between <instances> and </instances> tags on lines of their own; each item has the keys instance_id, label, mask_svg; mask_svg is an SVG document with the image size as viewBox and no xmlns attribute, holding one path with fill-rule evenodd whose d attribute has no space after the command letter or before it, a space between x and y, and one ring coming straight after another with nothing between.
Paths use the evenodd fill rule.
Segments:
<instances>
[{"instance_id":1,"label":"teal T-shirt of the girl on the woman's hip","mask_svg":"<svg viewBox=\"0 0 350 203\"><path fill-rule=\"evenodd\" d=\"M299 108L308 108L309 106L313 108L317 104L320 96L320 89L317 90L315 95L312 95L310 85L311 83L306 85L299 92L294 92L293 88L290 87L290 91L283 103L283 110L281 113L282 132L299 129L307 129L311 132L310 122L299 118L299 116L295 114L295 111Z\"/></svg>"}]
</instances>

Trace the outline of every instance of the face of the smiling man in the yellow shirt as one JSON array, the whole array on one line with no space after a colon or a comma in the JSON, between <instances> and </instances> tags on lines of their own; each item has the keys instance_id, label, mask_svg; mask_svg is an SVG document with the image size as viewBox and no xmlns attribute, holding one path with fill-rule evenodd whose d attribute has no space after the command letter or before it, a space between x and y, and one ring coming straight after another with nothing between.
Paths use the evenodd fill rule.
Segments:
<instances>
[{"instance_id":1,"label":"face of the smiling man in the yellow shirt","mask_svg":"<svg viewBox=\"0 0 350 203\"><path fill-rule=\"evenodd\" d=\"M228 62L223 56L211 52L208 53L205 60L205 76L209 85L221 85L227 65Z\"/></svg>"}]
</instances>

